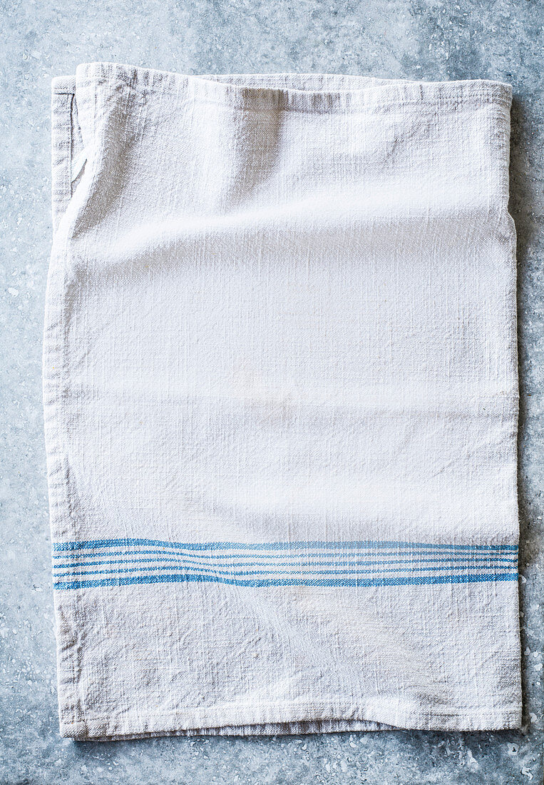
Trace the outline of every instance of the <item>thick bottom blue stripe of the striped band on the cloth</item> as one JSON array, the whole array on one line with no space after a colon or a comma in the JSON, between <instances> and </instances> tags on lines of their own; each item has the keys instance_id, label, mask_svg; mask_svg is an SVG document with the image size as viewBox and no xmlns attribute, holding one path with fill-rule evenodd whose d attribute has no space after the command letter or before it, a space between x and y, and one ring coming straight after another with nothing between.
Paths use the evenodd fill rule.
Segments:
<instances>
[{"instance_id":1,"label":"thick bottom blue stripe of the striped band on the cloth","mask_svg":"<svg viewBox=\"0 0 544 785\"><path fill-rule=\"evenodd\" d=\"M93 581L70 581L54 584L57 590L97 588L99 586L131 586L135 583L223 583L229 586L243 586L246 588L259 588L266 586L423 586L425 584L442 583L474 583L515 581L517 573L498 573L495 575L412 575L410 577L377 578L377 579L252 579L241 581L238 579L223 579L208 575L140 575L132 578L108 578Z\"/></svg>"}]
</instances>

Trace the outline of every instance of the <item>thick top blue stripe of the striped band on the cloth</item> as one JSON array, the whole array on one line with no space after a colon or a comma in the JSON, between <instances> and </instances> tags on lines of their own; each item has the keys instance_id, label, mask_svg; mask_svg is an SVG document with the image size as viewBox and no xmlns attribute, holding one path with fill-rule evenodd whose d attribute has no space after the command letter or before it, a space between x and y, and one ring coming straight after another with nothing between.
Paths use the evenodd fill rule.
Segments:
<instances>
[{"instance_id":1,"label":"thick top blue stripe of the striped band on the cloth","mask_svg":"<svg viewBox=\"0 0 544 785\"><path fill-rule=\"evenodd\" d=\"M118 546L161 546L171 548L183 548L186 550L293 550L296 548L323 548L337 550L339 548L395 548L406 546L411 548L437 548L452 550L510 550L517 551L517 546L513 545L452 545L439 542L407 542L407 541L379 541L363 540L361 542L168 542L166 540L152 539L97 539L75 542L53 542L54 551L63 550L82 550L90 548L111 548Z\"/></svg>"}]
</instances>

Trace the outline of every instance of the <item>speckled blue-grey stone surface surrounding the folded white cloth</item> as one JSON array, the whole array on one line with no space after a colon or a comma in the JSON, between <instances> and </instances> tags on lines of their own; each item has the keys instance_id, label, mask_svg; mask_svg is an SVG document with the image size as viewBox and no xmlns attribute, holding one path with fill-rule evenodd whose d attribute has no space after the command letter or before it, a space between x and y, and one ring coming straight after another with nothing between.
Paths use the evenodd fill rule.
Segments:
<instances>
[{"instance_id":1,"label":"speckled blue-grey stone surface surrounding the folded white cloth","mask_svg":"<svg viewBox=\"0 0 544 785\"><path fill-rule=\"evenodd\" d=\"M0 782L542 783L544 582L544 5L541 0L0 0ZM42 434L50 243L49 89L80 62L169 71L329 71L513 85L518 232L521 614L519 732L379 732L74 743L56 717Z\"/></svg>"}]
</instances>

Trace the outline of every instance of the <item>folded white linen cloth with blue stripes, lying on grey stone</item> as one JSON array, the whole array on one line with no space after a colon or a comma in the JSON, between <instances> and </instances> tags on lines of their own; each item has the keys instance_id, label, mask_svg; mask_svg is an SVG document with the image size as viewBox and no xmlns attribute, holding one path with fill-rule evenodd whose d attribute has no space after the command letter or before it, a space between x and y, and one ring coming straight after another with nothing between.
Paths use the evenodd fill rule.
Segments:
<instances>
[{"instance_id":1,"label":"folded white linen cloth with blue stripes, lying on grey stone","mask_svg":"<svg viewBox=\"0 0 544 785\"><path fill-rule=\"evenodd\" d=\"M53 80L63 736L520 725L510 100Z\"/></svg>"}]
</instances>

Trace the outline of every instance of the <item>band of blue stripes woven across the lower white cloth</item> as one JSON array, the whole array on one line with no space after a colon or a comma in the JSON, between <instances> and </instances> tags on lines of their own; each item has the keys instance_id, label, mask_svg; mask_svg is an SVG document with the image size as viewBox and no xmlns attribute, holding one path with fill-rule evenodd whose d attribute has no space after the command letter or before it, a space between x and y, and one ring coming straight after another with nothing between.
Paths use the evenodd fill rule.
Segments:
<instances>
[{"instance_id":1,"label":"band of blue stripes woven across the lower white cloth","mask_svg":"<svg viewBox=\"0 0 544 785\"><path fill-rule=\"evenodd\" d=\"M165 582L363 587L510 581L517 580L517 546L96 539L53 543L53 577L59 590Z\"/></svg>"}]
</instances>

